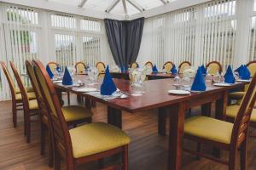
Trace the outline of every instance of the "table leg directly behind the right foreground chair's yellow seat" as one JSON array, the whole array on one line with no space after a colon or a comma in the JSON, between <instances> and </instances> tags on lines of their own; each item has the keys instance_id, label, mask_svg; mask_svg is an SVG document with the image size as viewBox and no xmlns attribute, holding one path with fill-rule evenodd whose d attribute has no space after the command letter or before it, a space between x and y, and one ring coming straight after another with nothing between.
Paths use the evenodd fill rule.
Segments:
<instances>
[{"instance_id":1,"label":"table leg directly behind the right foreground chair's yellow seat","mask_svg":"<svg viewBox=\"0 0 256 170\"><path fill-rule=\"evenodd\" d=\"M228 91L223 93L223 97L221 99L216 100L215 104L215 118L219 120L225 119L226 109L228 105ZM221 156L221 150L218 148L213 148L212 155L216 157Z\"/></svg>"}]
</instances>

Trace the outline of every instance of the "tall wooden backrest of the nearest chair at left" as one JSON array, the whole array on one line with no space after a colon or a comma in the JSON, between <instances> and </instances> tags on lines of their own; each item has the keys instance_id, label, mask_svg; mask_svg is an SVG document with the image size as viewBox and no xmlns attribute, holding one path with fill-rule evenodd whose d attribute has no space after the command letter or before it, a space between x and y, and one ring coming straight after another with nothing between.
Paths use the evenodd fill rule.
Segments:
<instances>
[{"instance_id":1,"label":"tall wooden backrest of the nearest chair at left","mask_svg":"<svg viewBox=\"0 0 256 170\"><path fill-rule=\"evenodd\" d=\"M48 110L49 127L53 134L55 147L60 151L61 155L64 154L66 156L67 161L71 161L73 159L72 143L67 122L61 110L61 103L55 92L55 86L40 61L33 60L32 65L34 66L38 86Z\"/></svg>"}]
</instances>

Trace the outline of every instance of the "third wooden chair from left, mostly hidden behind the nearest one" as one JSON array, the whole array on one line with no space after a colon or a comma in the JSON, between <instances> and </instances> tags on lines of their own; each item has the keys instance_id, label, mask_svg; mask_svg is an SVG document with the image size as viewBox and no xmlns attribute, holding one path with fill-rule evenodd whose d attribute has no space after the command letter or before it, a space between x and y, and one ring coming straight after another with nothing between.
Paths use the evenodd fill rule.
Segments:
<instances>
[{"instance_id":1,"label":"third wooden chair from left, mostly hidden behind the nearest one","mask_svg":"<svg viewBox=\"0 0 256 170\"><path fill-rule=\"evenodd\" d=\"M40 110L40 124L41 124L41 155L44 155L44 148L45 148L45 136L46 136L46 130L48 129L47 136L49 136L49 167L52 167L53 165L53 141L51 139L50 131L49 131L49 120L47 118L47 108L44 103L44 99L42 97L42 94L40 92L40 88L37 82L37 78L35 76L35 73L33 71L33 67L30 61L26 60L26 71L28 73L28 76L32 82L32 87L35 89L35 94L38 99L38 107ZM67 125L76 127L79 123L90 123L91 122L91 116L92 112L88 109L86 109L83 106L79 105L67 105L61 107L61 110L63 112L65 121L67 122Z\"/></svg>"}]
</instances>

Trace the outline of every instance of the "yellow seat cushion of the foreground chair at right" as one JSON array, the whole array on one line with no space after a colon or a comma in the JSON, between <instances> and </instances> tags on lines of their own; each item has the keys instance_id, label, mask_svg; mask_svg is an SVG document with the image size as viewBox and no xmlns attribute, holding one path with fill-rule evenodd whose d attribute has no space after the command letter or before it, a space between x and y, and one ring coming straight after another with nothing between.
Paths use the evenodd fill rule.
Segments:
<instances>
[{"instance_id":1,"label":"yellow seat cushion of the foreground chair at right","mask_svg":"<svg viewBox=\"0 0 256 170\"><path fill-rule=\"evenodd\" d=\"M224 144L230 144L233 124L207 116L194 116L185 121L184 133Z\"/></svg>"}]
</instances>

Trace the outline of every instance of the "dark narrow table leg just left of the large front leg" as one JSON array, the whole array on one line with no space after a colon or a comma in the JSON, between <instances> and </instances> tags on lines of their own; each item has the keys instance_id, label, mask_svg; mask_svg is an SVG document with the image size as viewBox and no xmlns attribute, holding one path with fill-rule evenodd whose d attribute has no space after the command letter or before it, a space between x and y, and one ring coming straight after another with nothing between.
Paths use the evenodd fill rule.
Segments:
<instances>
[{"instance_id":1,"label":"dark narrow table leg just left of the large front leg","mask_svg":"<svg viewBox=\"0 0 256 170\"><path fill-rule=\"evenodd\" d=\"M158 110L158 133L166 136L166 108L164 107Z\"/></svg>"}]
</instances>

